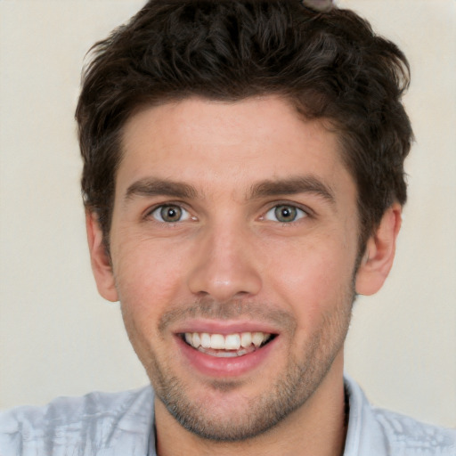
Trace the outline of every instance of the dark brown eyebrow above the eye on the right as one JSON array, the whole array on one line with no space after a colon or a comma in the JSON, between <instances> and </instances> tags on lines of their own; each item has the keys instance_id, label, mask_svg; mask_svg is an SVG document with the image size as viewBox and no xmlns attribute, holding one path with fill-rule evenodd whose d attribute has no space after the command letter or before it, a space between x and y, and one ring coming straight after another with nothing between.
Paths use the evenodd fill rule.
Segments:
<instances>
[{"instance_id":1,"label":"dark brown eyebrow above the eye on the right","mask_svg":"<svg viewBox=\"0 0 456 456\"><path fill-rule=\"evenodd\" d=\"M297 193L314 193L326 199L330 204L336 203L334 191L330 185L323 183L312 175L290 177L288 179L267 180L252 185L250 198L265 198L277 195L295 195Z\"/></svg>"}]
</instances>

